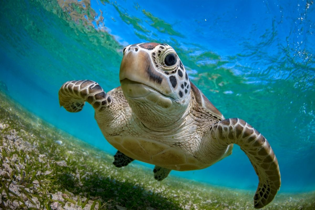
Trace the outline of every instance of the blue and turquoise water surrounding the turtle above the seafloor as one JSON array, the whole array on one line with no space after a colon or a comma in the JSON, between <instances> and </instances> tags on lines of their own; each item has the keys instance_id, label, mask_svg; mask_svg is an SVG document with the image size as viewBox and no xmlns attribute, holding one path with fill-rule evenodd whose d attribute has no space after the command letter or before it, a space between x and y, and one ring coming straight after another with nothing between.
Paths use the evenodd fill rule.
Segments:
<instances>
[{"instance_id":1,"label":"blue and turquoise water surrounding the turtle above the seafloor","mask_svg":"<svg viewBox=\"0 0 315 210\"><path fill-rule=\"evenodd\" d=\"M0 88L58 128L114 154L91 106L60 109L68 80L119 86L122 49L175 48L192 81L226 118L239 117L271 144L281 192L315 189L315 5L311 1L0 1ZM153 167L153 166L149 166ZM258 178L232 156L171 174L255 190Z\"/></svg>"}]
</instances>

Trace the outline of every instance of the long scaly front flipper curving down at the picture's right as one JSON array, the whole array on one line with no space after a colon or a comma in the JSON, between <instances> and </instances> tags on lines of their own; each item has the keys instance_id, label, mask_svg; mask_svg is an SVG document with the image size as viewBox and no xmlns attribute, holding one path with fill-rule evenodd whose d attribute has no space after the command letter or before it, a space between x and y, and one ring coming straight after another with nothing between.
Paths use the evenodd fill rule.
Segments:
<instances>
[{"instance_id":1,"label":"long scaly front flipper curving down at the picture's right","mask_svg":"<svg viewBox=\"0 0 315 210\"><path fill-rule=\"evenodd\" d=\"M280 188L281 178L278 160L265 137L238 118L216 122L210 134L217 146L237 144L241 147L259 178L254 207L262 208L270 203Z\"/></svg>"}]
</instances>

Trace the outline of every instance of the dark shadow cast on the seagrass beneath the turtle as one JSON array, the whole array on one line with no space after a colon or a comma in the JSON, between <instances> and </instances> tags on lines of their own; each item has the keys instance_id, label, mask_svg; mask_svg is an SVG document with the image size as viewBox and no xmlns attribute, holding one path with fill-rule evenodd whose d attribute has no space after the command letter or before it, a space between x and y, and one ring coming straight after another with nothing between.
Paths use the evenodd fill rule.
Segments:
<instances>
[{"instance_id":1,"label":"dark shadow cast on the seagrass beneath the turtle","mask_svg":"<svg viewBox=\"0 0 315 210\"><path fill-rule=\"evenodd\" d=\"M126 180L117 181L100 173L89 173L83 179L75 178L71 173L59 173L55 180L61 189L74 196L84 196L99 202L99 209L182 209L162 195L145 190L138 184ZM124 208L121 208L124 209Z\"/></svg>"}]
</instances>

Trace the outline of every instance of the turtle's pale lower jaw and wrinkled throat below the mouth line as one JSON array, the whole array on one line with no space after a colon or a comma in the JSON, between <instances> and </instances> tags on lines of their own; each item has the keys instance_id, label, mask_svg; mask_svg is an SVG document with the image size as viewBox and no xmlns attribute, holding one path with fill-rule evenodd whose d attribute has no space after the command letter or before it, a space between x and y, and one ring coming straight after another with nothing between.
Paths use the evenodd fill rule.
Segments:
<instances>
[{"instance_id":1,"label":"turtle's pale lower jaw and wrinkled throat below the mouth line","mask_svg":"<svg viewBox=\"0 0 315 210\"><path fill-rule=\"evenodd\" d=\"M121 82L121 87L134 117L150 130L174 129L187 115L189 99L178 102L150 86L130 80Z\"/></svg>"}]
</instances>

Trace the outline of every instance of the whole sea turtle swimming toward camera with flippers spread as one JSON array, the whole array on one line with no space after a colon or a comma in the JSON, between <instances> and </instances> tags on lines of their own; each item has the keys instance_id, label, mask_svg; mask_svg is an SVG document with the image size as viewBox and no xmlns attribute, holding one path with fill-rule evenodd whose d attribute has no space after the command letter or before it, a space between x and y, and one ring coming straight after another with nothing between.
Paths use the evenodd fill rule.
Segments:
<instances>
[{"instance_id":1,"label":"whole sea turtle swimming toward camera with flippers spread","mask_svg":"<svg viewBox=\"0 0 315 210\"><path fill-rule=\"evenodd\" d=\"M107 94L91 80L68 81L59 90L60 106L67 111L81 111L85 101L94 107L103 135L118 150L115 166L134 159L151 163L161 181L171 170L209 167L231 155L237 144L259 177L254 207L272 201L281 179L268 141L244 120L225 119L189 80L171 46L126 46L119 79L121 86Z\"/></svg>"}]
</instances>

